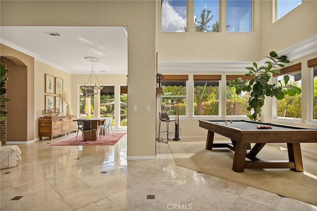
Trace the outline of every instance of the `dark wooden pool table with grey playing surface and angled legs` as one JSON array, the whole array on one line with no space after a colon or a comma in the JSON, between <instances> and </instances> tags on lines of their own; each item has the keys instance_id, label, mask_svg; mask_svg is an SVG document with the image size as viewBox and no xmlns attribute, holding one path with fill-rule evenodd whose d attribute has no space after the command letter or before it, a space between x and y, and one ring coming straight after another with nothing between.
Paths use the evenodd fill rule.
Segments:
<instances>
[{"instance_id":1,"label":"dark wooden pool table with grey playing surface and angled legs","mask_svg":"<svg viewBox=\"0 0 317 211\"><path fill-rule=\"evenodd\" d=\"M271 126L272 129L258 129L258 125ZM199 120L199 126L208 130L206 150L225 147L234 151L232 170L235 172L243 172L245 168L290 168L304 171L300 143L317 142L317 129L313 128L249 120ZM214 133L230 138L231 143L213 143ZM252 148L251 143L254 143ZM289 160L258 158L258 153L266 143L287 143Z\"/></svg>"}]
</instances>

